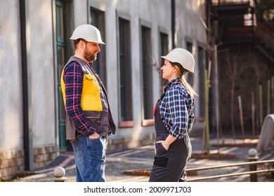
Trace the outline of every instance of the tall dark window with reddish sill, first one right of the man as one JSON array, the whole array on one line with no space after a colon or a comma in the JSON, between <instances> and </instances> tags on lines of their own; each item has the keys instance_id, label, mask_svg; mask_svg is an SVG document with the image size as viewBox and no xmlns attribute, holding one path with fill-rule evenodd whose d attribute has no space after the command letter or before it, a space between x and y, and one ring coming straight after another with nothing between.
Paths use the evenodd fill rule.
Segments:
<instances>
[{"instance_id":1,"label":"tall dark window with reddish sill, first one right of the man","mask_svg":"<svg viewBox=\"0 0 274 196\"><path fill-rule=\"evenodd\" d=\"M133 127L130 22L119 18L119 127Z\"/></svg>"}]
</instances>

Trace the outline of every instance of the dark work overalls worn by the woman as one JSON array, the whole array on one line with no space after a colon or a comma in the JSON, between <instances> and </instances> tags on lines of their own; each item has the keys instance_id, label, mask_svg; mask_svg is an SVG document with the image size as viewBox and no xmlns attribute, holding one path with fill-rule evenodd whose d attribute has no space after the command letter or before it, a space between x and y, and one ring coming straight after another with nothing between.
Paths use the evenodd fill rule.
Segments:
<instances>
[{"instance_id":1,"label":"dark work overalls worn by the woman","mask_svg":"<svg viewBox=\"0 0 274 196\"><path fill-rule=\"evenodd\" d=\"M169 131L164 127L159 113L159 102L155 106L156 141L165 140ZM176 139L166 150L162 144L155 144L156 155L150 174L150 182L186 181L185 165L190 159L192 147L188 134Z\"/></svg>"}]
</instances>

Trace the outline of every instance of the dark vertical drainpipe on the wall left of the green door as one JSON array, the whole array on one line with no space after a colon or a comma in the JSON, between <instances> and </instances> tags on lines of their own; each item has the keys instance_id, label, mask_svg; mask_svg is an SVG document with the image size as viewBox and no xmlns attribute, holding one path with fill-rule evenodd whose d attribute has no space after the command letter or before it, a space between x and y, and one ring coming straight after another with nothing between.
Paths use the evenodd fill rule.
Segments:
<instances>
[{"instance_id":1,"label":"dark vertical drainpipe on the wall left of the green door","mask_svg":"<svg viewBox=\"0 0 274 196\"><path fill-rule=\"evenodd\" d=\"M32 133L30 129L30 92L29 81L30 71L27 70L27 48L29 46L30 34L27 25L27 0L20 2L20 32L21 32L21 59L22 59L22 127L23 127L23 142L25 153L25 171L33 169L33 148L32 148Z\"/></svg>"}]
</instances>

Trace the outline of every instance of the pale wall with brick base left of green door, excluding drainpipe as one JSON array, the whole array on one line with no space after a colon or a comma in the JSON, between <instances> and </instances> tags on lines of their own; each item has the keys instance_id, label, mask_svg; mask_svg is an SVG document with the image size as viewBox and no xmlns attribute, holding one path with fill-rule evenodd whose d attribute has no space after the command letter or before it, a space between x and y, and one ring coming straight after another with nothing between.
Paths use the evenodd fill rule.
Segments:
<instances>
[{"instance_id":1,"label":"pale wall with brick base left of green door, excluding drainpipe","mask_svg":"<svg viewBox=\"0 0 274 196\"><path fill-rule=\"evenodd\" d=\"M53 1L26 1L27 80L33 167L58 155L54 83ZM19 1L0 6L0 179L25 170Z\"/></svg>"}]
</instances>

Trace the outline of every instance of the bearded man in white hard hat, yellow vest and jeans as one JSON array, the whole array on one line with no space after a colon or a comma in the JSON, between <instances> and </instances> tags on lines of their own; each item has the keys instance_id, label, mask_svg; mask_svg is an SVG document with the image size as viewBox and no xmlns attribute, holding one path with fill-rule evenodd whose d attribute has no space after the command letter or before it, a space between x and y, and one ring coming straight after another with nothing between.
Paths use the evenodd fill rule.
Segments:
<instances>
[{"instance_id":1,"label":"bearded man in white hard hat, yellow vest and jeans","mask_svg":"<svg viewBox=\"0 0 274 196\"><path fill-rule=\"evenodd\" d=\"M105 181L107 136L115 134L107 94L92 62L103 43L100 31L80 25L71 36L74 56L65 64L61 87L66 118L66 139L71 141L78 182Z\"/></svg>"}]
</instances>

